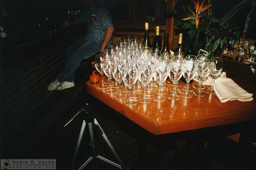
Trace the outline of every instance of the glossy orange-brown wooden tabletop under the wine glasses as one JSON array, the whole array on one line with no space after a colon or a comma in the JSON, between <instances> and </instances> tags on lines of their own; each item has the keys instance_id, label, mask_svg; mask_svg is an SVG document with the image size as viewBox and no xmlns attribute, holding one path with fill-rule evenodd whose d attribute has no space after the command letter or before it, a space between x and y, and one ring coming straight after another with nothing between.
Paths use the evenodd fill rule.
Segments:
<instances>
[{"instance_id":1,"label":"glossy orange-brown wooden tabletop under the wine glasses","mask_svg":"<svg viewBox=\"0 0 256 170\"><path fill-rule=\"evenodd\" d=\"M256 94L255 77L248 65L225 61L224 68L227 77L249 93ZM86 83L86 88L88 93L155 135L256 119L255 99L221 103L215 94L207 94L204 97L180 97L175 101L166 99L165 102L152 100L147 104L138 102L137 105L127 106L90 82Z\"/></svg>"}]
</instances>

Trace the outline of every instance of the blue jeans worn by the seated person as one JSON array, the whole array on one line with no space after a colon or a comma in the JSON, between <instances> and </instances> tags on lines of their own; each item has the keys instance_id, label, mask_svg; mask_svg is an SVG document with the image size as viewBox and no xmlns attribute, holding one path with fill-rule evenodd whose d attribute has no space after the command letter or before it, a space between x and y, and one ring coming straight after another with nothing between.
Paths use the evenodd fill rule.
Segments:
<instances>
[{"instance_id":1,"label":"blue jeans worn by the seated person","mask_svg":"<svg viewBox=\"0 0 256 170\"><path fill-rule=\"evenodd\" d=\"M79 68L83 59L88 59L99 51L100 44L85 40L85 38L75 42L66 49L66 67L62 70L57 80L59 82L74 82L75 71Z\"/></svg>"}]
</instances>

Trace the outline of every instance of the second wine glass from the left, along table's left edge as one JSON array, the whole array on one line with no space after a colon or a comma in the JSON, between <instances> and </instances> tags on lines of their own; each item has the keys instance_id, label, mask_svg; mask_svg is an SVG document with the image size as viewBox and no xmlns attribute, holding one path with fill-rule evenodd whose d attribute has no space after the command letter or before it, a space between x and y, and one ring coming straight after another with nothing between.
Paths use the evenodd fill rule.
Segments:
<instances>
[{"instance_id":1,"label":"second wine glass from the left, along table's left edge","mask_svg":"<svg viewBox=\"0 0 256 170\"><path fill-rule=\"evenodd\" d=\"M109 79L109 88L105 89L104 92L106 94L115 94L117 90L112 88L112 60L110 56L105 55L105 57L103 57L103 71Z\"/></svg>"}]
</instances>

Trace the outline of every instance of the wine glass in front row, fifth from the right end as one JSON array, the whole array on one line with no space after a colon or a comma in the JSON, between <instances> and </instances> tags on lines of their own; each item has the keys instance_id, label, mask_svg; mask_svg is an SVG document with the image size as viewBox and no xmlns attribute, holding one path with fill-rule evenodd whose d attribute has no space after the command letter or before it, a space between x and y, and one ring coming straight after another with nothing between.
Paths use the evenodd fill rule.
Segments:
<instances>
[{"instance_id":1,"label":"wine glass in front row, fifth from the right end","mask_svg":"<svg viewBox=\"0 0 256 170\"><path fill-rule=\"evenodd\" d=\"M170 70L170 60L165 57L159 57L156 62L156 71L154 71L154 79L159 85L158 96L154 96L153 100L157 102L163 102L166 100L166 96L161 94L161 87L163 82L168 77L168 73Z\"/></svg>"}]
</instances>

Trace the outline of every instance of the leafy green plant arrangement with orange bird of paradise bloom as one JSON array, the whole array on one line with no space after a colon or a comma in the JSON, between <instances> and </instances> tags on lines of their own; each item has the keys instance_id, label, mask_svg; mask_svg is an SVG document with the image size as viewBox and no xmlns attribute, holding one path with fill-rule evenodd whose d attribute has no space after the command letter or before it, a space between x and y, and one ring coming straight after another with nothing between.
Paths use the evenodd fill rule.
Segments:
<instances>
[{"instance_id":1,"label":"leafy green plant arrangement with orange bird of paradise bloom","mask_svg":"<svg viewBox=\"0 0 256 170\"><path fill-rule=\"evenodd\" d=\"M180 6L182 14L176 11L167 10L167 14L176 14L175 24L186 31L189 37L200 34L204 37L204 50L213 57L218 47L222 48L226 40L236 40L239 36L239 27L229 23L229 19L244 6L248 0L237 4L231 11L228 11L221 19L217 18L211 9L211 4L193 1L190 6Z\"/></svg>"}]
</instances>

